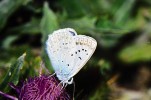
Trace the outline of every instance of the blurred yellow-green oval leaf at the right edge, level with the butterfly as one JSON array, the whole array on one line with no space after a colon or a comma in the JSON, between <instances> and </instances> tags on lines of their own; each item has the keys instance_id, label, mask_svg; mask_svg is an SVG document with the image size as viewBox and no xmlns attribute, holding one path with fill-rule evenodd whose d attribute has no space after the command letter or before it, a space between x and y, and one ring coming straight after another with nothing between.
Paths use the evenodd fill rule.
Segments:
<instances>
[{"instance_id":1,"label":"blurred yellow-green oval leaf at the right edge, level with the butterfly","mask_svg":"<svg viewBox=\"0 0 151 100\"><path fill-rule=\"evenodd\" d=\"M151 60L151 45L131 45L119 53L119 57L125 62L149 61Z\"/></svg>"}]
</instances>

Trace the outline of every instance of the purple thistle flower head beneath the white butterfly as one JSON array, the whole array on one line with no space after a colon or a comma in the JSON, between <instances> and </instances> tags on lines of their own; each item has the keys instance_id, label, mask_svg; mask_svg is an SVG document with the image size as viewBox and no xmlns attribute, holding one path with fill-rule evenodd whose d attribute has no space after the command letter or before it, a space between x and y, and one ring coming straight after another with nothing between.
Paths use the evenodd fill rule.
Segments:
<instances>
[{"instance_id":1,"label":"purple thistle flower head beneath the white butterfly","mask_svg":"<svg viewBox=\"0 0 151 100\"><path fill-rule=\"evenodd\" d=\"M2 92L0 94L12 100L70 100L70 96L59 85L55 76L42 75L29 78L21 86L10 86L16 90L18 98Z\"/></svg>"}]
</instances>

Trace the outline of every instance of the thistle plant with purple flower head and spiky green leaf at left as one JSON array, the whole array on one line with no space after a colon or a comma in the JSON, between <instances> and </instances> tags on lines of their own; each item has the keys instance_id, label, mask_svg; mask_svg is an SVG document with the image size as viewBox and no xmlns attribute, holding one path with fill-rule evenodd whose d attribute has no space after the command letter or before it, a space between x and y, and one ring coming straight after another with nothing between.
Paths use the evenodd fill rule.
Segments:
<instances>
[{"instance_id":1,"label":"thistle plant with purple flower head and spiky green leaf at left","mask_svg":"<svg viewBox=\"0 0 151 100\"><path fill-rule=\"evenodd\" d=\"M23 82L20 81L20 85L15 85L18 83L19 77L16 79L17 76L14 75L16 75L16 71L18 71L18 73L20 72L20 68L23 66L24 57L25 54L18 58L18 60L10 67L8 74L6 74L6 78L7 76L9 77L2 82L3 84L4 82L6 83L5 87L9 85L15 90L16 97L3 93L2 91L0 91L0 95L11 100L70 100L69 94L54 75L31 77L27 80L23 80ZM10 75L10 72L13 76ZM15 83L14 79L16 79ZM1 88L3 84L1 84Z\"/></svg>"}]
</instances>

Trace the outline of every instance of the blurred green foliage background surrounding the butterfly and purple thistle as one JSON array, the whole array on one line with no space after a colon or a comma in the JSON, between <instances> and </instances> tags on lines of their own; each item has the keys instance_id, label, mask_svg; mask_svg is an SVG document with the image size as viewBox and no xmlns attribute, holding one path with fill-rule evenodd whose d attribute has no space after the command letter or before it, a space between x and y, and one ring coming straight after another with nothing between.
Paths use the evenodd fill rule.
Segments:
<instances>
[{"instance_id":1,"label":"blurred green foliage background surrounding the butterfly and purple thistle","mask_svg":"<svg viewBox=\"0 0 151 100\"><path fill-rule=\"evenodd\" d=\"M53 73L45 41L66 27L98 42L74 76L76 100L151 100L151 0L1 0L0 90Z\"/></svg>"}]
</instances>

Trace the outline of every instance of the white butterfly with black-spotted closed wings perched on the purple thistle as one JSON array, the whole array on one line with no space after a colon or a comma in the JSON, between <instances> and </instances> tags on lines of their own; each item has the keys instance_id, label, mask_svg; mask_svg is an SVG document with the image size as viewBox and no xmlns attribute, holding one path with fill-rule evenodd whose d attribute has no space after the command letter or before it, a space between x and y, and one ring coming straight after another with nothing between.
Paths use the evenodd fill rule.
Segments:
<instances>
[{"instance_id":1,"label":"white butterfly with black-spotted closed wings perched on the purple thistle","mask_svg":"<svg viewBox=\"0 0 151 100\"><path fill-rule=\"evenodd\" d=\"M71 84L73 76L86 64L97 46L95 39L77 35L71 28L59 29L49 35L46 50L58 79Z\"/></svg>"}]
</instances>

